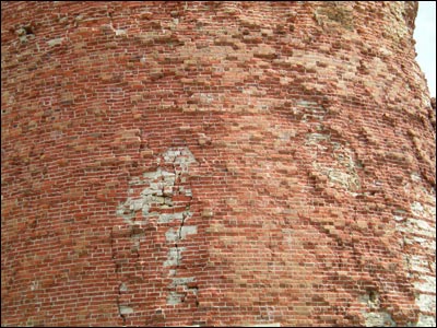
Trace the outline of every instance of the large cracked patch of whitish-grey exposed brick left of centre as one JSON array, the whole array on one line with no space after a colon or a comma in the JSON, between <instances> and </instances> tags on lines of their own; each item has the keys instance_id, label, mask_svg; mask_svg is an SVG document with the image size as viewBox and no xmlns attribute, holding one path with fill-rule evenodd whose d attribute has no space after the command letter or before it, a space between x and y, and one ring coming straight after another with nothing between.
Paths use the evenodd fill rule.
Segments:
<instances>
[{"instance_id":1,"label":"large cracked patch of whitish-grey exposed brick left of centre","mask_svg":"<svg viewBox=\"0 0 437 328\"><path fill-rule=\"evenodd\" d=\"M187 294L197 295L196 277L178 278L179 268L184 260L187 237L197 234L196 225L186 225L192 216L191 188L187 187L189 166L196 159L188 148L170 148L156 159L158 167L146 172L142 177L130 180L128 199L117 209L117 214L125 220L130 229L129 239L137 258L141 257L140 244L144 239L144 231L150 224L168 225L165 233L168 245L167 259L162 263L164 272L168 271L172 282L167 286L166 303L178 305L185 302ZM172 167L172 172L166 167ZM189 186L189 185L188 185ZM145 188L144 188L145 187ZM175 222L179 222L177 226ZM176 229L176 230L175 230ZM122 260L122 259L120 259ZM132 263L129 263L131 266ZM122 270L122 267L121 267ZM123 283L120 281L120 285ZM120 315L126 316L134 309L128 304L118 304Z\"/></svg>"}]
</instances>

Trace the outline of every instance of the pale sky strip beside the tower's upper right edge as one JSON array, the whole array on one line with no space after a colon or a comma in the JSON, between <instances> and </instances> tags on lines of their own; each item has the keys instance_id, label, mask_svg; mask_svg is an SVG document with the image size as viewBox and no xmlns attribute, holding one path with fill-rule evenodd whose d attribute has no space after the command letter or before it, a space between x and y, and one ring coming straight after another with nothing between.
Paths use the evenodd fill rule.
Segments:
<instances>
[{"instance_id":1,"label":"pale sky strip beside the tower's upper right edge","mask_svg":"<svg viewBox=\"0 0 437 328\"><path fill-rule=\"evenodd\" d=\"M432 97L436 96L436 1L418 1L414 39L416 60L428 81Z\"/></svg>"}]
</instances>

